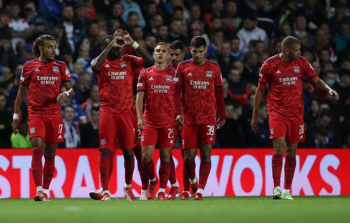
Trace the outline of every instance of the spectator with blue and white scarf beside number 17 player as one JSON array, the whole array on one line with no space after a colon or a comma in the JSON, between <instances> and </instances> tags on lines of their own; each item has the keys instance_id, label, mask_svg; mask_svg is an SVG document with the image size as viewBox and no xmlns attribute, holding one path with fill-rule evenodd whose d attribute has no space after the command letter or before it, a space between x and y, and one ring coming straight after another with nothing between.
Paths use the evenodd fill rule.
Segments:
<instances>
[{"instance_id":1,"label":"spectator with blue and white scarf beside number 17 player","mask_svg":"<svg viewBox=\"0 0 350 223\"><path fill-rule=\"evenodd\" d=\"M64 142L58 144L57 148L79 148L80 131L79 125L73 122L75 110L73 106L66 105L63 109Z\"/></svg>"}]
</instances>

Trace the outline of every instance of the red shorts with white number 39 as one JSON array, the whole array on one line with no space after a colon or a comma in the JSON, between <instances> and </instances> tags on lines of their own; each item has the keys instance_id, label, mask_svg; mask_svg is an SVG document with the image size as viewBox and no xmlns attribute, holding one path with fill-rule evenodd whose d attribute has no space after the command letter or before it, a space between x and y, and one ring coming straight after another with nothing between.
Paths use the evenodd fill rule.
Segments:
<instances>
[{"instance_id":1,"label":"red shorts with white number 39","mask_svg":"<svg viewBox=\"0 0 350 223\"><path fill-rule=\"evenodd\" d=\"M216 123L182 126L182 149L194 149L203 144L215 145Z\"/></svg>"}]
</instances>

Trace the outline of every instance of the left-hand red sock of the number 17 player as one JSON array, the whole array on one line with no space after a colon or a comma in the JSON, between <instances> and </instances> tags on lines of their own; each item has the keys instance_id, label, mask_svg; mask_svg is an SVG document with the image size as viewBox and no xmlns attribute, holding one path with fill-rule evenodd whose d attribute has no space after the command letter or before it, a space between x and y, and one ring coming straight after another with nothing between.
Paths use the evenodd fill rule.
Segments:
<instances>
[{"instance_id":1,"label":"left-hand red sock of the number 17 player","mask_svg":"<svg viewBox=\"0 0 350 223\"><path fill-rule=\"evenodd\" d=\"M34 147L31 156L31 175L33 175L35 186L42 186L43 164L42 156L44 152L40 147Z\"/></svg>"}]
</instances>

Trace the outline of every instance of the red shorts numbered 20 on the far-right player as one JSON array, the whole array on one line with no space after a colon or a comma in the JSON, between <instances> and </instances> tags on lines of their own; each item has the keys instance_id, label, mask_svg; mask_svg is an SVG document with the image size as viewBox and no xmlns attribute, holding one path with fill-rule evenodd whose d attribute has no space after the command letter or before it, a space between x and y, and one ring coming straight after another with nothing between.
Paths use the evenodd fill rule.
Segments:
<instances>
[{"instance_id":1,"label":"red shorts numbered 20 on the far-right player","mask_svg":"<svg viewBox=\"0 0 350 223\"><path fill-rule=\"evenodd\" d=\"M270 139L277 137L286 137L290 143L304 142L304 119L289 120L281 117L270 117L268 120L270 126Z\"/></svg>"}]
</instances>

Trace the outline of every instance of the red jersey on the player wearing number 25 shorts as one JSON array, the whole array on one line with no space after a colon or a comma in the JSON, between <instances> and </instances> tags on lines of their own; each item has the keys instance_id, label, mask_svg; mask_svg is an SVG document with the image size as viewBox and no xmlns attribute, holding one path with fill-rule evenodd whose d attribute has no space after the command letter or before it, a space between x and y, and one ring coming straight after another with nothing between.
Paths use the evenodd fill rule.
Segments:
<instances>
[{"instance_id":1,"label":"red jersey on the player wearing number 25 shorts","mask_svg":"<svg viewBox=\"0 0 350 223\"><path fill-rule=\"evenodd\" d=\"M174 128L173 79L176 70L166 67L157 70L154 66L141 70L137 91L145 92L144 119L152 128Z\"/></svg>"}]
</instances>

